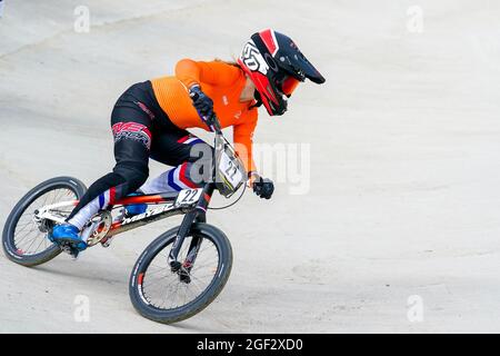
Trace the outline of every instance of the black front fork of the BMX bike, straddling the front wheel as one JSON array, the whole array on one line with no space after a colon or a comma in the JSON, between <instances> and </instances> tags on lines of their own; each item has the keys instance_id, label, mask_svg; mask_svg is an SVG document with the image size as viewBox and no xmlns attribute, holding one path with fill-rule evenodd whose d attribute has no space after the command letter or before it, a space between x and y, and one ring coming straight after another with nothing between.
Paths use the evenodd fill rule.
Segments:
<instances>
[{"instance_id":1,"label":"black front fork of the BMX bike, straddling the front wheel","mask_svg":"<svg viewBox=\"0 0 500 356\"><path fill-rule=\"evenodd\" d=\"M210 198L212 197L213 190L216 186L213 182L209 182L204 185L203 191L201 194L200 200L198 201L194 209L184 215L182 222L177 231L176 239L173 240L172 248L170 249L168 263L171 267L172 271L178 271L182 265L178 261L179 251L181 249L182 243L184 241L186 236L191 230L191 226L194 222L204 222L207 221L207 208L210 202ZM191 267L197 258L199 248L201 246L202 238L200 236L193 236L191 244L189 246L188 256L184 260L184 268L191 270Z\"/></svg>"}]
</instances>

